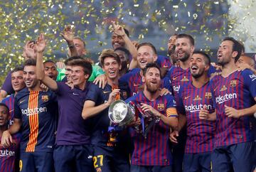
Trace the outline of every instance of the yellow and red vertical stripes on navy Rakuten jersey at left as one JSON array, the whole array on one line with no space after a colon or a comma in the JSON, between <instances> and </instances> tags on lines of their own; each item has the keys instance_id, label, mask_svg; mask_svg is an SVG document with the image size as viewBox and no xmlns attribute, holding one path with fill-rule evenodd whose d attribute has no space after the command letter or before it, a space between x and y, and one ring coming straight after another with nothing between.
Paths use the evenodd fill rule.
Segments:
<instances>
[{"instance_id":1,"label":"yellow and red vertical stripes on navy Rakuten jersey at left","mask_svg":"<svg viewBox=\"0 0 256 172\"><path fill-rule=\"evenodd\" d=\"M34 110L38 107L38 96L39 92L30 92L28 98L28 109L32 109L35 113L28 116L30 133L26 151L35 151L38 140L38 113Z\"/></svg>"}]
</instances>

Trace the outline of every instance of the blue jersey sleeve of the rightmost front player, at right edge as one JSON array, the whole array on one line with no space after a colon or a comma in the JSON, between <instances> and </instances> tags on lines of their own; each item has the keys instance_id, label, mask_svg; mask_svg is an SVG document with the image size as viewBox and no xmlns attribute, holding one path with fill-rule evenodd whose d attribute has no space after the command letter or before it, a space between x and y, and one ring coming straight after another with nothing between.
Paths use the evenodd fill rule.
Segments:
<instances>
[{"instance_id":1,"label":"blue jersey sleeve of the rightmost front player, at right edge","mask_svg":"<svg viewBox=\"0 0 256 172\"><path fill-rule=\"evenodd\" d=\"M242 71L242 77L252 97L256 98L256 75L251 70L246 69Z\"/></svg>"}]
</instances>

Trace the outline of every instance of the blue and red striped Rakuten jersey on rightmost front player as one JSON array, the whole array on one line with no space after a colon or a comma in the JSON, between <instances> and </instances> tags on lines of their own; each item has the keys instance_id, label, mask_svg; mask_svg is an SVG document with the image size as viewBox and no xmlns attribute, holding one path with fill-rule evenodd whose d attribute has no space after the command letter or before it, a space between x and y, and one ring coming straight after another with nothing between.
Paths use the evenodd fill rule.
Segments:
<instances>
[{"instance_id":1,"label":"blue and red striped Rakuten jersey on rightmost front player","mask_svg":"<svg viewBox=\"0 0 256 172\"><path fill-rule=\"evenodd\" d=\"M253 141L252 117L235 119L227 117L225 105L235 109L245 109L255 104L256 76L250 70L235 71L223 77L215 75L210 86L216 109L215 146L227 146Z\"/></svg>"}]
</instances>

